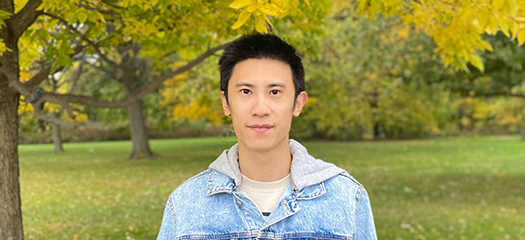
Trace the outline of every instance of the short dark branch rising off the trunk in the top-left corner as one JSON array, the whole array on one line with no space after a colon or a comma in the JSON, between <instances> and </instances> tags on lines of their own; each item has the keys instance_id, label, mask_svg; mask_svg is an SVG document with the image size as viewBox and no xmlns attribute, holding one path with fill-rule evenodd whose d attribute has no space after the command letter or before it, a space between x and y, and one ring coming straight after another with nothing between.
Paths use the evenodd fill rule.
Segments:
<instances>
[{"instance_id":1,"label":"short dark branch rising off the trunk in the top-left corner","mask_svg":"<svg viewBox=\"0 0 525 240\"><path fill-rule=\"evenodd\" d=\"M35 22L38 15L42 12L36 9L42 4L42 0L29 0L20 12L16 13L11 19L10 24L13 26L13 33L18 39L25 30Z\"/></svg>"}]
</instances>

